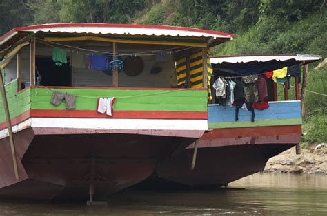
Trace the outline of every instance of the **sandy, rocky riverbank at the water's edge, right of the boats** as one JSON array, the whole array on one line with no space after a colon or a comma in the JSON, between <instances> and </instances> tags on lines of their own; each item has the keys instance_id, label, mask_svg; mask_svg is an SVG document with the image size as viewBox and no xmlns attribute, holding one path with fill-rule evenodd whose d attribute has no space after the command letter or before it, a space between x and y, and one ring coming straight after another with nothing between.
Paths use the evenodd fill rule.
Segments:
<instances>
[{"instance_id":1,"label":"sandy, rocky riverbank at the water's edge, right of the boats","mask_svg":"<svg viewBox=\"0 0 327 216\"><path fill-rule=\"evenodd\" d=\"M327 175L327 145L319 144L295 153L295 147L270 158L264 169L266 173L299 173Z\"/></svg>"}]
</instances>

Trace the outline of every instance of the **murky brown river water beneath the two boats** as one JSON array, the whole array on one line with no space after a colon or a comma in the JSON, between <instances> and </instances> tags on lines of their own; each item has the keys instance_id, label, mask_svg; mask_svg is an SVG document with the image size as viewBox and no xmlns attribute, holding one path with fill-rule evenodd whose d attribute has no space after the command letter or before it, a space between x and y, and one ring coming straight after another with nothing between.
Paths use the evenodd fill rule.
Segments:
<instances>
[{"instance_id":1,"label":"murky brown river water beneath the two boats","mask_svg":"<svg viewBox=\"0 0 327 216\"><path fill-rule=\"evenodd\" d=\"M228 189L127 189L108 206L0 200L0 215L327 215L327 175L257 173Z\"/></svg>"}]
</instances>

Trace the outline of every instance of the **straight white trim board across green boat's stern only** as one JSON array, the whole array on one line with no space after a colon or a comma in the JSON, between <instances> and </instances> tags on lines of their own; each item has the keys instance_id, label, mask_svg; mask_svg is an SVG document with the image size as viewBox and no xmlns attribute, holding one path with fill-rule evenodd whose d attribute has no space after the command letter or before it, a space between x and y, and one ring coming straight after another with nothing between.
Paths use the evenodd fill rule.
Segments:
<instances>
[{"instance_id":1,"label":"straight white trim board across green boat's stern only","mask_svg":"<svg viewBox=\"0 0 327 216\"><path fill-rule=\"evenodd\" d=\"M207 130L207 120L123 118L31 118L32 127L130 130Z\"/></svg>"}]
</instances>

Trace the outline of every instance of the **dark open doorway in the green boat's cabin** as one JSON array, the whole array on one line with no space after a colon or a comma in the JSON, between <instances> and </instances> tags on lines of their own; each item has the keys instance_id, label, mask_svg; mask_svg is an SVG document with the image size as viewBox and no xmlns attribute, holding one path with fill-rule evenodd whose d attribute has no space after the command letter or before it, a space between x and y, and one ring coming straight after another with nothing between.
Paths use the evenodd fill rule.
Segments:
<instances>
[{"instance_id":1,"label":"dark open doorway in the green boat's cabin","mask_svg":"<svg viewBox=\"0 0 327 216\"><path fill-rule=\"evenodd\" d=\"M36 58L37 77L41 76L41 85L72 86L72 69L67 64L57 66L51 58Z\"/></svg>"}]
</instances>

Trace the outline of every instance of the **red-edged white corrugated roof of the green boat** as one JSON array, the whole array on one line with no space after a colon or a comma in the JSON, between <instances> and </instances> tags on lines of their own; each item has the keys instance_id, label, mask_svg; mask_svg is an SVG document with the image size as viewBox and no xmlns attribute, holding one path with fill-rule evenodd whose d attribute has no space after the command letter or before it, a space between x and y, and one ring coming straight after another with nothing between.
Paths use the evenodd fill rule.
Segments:
<instances>
[{"instance_id":1,"label":"red-edged white corrugated roof of the green boat","mask_svg":"<svg viewBox=\"0 0 327 216\"><path fill-rule=\"evenodd\" d=\"M119 34L141 36L194 36L210 39L232 39L234 34L166 25L132 25L110 23L54 23L14 28L0 37L0 45L17 32L67 32L92 34Z\"/></svg>"}]
</instances>

